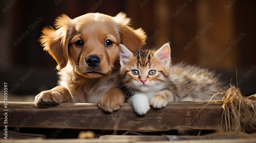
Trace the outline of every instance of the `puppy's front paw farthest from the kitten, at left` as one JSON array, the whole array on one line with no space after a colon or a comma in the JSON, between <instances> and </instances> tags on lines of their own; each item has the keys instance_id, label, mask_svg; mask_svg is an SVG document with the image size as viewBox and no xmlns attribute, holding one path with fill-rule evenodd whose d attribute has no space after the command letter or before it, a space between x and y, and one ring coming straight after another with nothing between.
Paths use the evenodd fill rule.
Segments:
<instances>
[{"instance_id":1,"label":"puppy's front paw farthest from the kitten, at left","mask_svg":"<svg viewBox=\"0 0 256 143\"><path fill-rule=\"evenodd\" d=\"M37 107L50 107L52 105L56 106L60 104L60 99L58 98L60 94L56 91L47 90L42 91L35 97L35 105Z\"/></svg>"}]
</instances>

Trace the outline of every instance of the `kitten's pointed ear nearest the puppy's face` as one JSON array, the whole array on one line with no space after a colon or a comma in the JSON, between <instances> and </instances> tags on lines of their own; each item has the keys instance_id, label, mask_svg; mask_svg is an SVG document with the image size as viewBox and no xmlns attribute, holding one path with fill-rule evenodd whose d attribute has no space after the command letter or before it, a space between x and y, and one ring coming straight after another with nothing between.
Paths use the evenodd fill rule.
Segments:
<instances>
[{"instance_id":1,"label":"kitten's pointed ear nearest the puppy's face","mask_svg":"<svg viewBox=\"0 0 256 143\"><path fill-rule=\"evenodd\" d=\"M133 56L133 53L127 49L123 44L119 44L119 55L120 55L120 64L124 66L126 62Z\"/></svg>"}]
</instances>

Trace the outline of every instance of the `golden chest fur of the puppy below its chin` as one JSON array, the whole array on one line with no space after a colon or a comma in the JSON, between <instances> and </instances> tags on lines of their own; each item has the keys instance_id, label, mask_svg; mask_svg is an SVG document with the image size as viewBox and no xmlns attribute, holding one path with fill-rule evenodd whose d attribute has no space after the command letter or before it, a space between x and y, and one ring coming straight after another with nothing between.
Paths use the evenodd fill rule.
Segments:
<instances>
[{"instance_id":1,"label":"golden chest fur of the puppy below its chin","mask_svg":"<svg viewBox=\"0 0 256 143\"><path fill-rule=\"evenodd\" d=\"M119 87L119 73L111 73L101 78L90 79L75 75L68 64L58 74L58 85L66 87L75 103L98 103L100 96L112 87Z\"/></svg>"}]
</instances>

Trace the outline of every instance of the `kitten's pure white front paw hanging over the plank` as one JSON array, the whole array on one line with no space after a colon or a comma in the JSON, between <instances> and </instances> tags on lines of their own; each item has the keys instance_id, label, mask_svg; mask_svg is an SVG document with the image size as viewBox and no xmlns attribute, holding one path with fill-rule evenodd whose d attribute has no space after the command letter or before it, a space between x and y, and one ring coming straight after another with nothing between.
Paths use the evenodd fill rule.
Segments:
<instances>
[{"instance_id":1,"label":"kitten's pure white front paw hanging over the plank","mask_svg":"<svg viewBox=\"0 0 256 143\"><path fill-rule=\"evenodd\" d=\"M135 94L132 98L132 106L138 115L145 115L150 109L149 99L146 94Z\"/></svg>"}]
</instances>

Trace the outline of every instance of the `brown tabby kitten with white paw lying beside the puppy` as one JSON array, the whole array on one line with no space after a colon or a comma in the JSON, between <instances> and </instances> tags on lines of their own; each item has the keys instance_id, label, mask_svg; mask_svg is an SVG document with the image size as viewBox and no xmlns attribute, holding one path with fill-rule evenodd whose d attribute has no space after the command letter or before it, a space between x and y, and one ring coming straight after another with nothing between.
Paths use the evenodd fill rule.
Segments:
<instances>
[{"instance_id":1,"label":"brown tabby kitten with white paw lying beside the puppy","mask_svg":"<svg viewBox=\"0 0 256 143\"><path fill-rule=\"evenodd\" d=\"M210 100L223 88L214 72L196 66L171 64L169 44L158 51L131 52L120 44L120 74L128 102L138 115L164 108L169 102Z\"/></svg>"}]
</instances>

